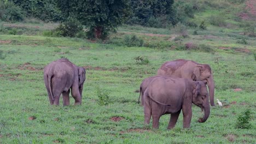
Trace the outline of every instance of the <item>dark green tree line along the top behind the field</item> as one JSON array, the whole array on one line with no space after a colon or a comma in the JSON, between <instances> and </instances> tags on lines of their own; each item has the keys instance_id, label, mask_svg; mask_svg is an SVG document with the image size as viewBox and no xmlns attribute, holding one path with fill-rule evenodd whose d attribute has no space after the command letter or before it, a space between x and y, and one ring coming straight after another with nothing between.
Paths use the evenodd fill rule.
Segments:
<instances>
[{"instance_id":1,"label":"dark green tree line along the top behind the field","mask_svg":"<svg viewBox=\"0 0 256 144\"><path fill-rule=\"evenodd\" d=\"M173 5L174 0L0 0L0 19L20 21L36 17L65 25L78 21L86 27L89 38L104 39L123 23L149 27L174 25L180 17Z\"/></svg>"}]
</instances>

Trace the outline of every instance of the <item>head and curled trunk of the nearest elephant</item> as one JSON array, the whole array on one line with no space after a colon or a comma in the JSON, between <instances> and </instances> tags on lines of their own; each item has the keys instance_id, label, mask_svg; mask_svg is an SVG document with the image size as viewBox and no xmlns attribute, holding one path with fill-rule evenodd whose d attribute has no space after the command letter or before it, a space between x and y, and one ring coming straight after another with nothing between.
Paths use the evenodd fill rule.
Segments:
<instances>
[{"instance_id":1,"label":"head and curled trunk of the nearest elephant","mask_svg":"<svg viewBox=\"0 0 256 144\"><path fill-rule=\"evenodd\" d=\"M206 82L196 81L193 85L193 104L201 107L204 111L203 118L200 118L198 121L203 123L205 122L210 115L210 104L209 104L209 95L206 87Z\"/></svg>"}]
</instances>

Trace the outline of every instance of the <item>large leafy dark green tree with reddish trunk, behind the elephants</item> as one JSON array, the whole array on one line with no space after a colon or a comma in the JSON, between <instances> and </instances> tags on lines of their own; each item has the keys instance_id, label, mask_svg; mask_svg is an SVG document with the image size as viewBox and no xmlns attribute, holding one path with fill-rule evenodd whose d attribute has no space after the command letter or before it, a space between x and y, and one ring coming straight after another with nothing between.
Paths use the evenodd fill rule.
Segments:
<instances>
[{"instance_id":1,"label":"large leafy dark green tree with reddish trunk, behind the elephants","mask_svg":"<svg viewBox=\"0 0 256 144\"><path fill-rule=\"evenodd\" d=\"M88 27L89 38L106 38L130 15L129 0L57 0L64 17L74 17Z\"/></svg>"}]
</instances>

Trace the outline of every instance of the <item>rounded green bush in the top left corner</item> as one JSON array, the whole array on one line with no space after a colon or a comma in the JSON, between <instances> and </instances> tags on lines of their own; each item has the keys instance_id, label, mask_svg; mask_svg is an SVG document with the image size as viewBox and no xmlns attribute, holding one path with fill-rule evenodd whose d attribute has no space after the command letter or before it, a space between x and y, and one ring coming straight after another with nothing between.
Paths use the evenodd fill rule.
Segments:
<instances>
[{"instance_id":1,"label":"rounded green bush in the top left corner","mask_svg":"<svg viewBox=\"0 0 256 144\"><path fill-rule=\"evenodd\" d=\"M0 20L22 21L24 20L24 12L11 1L0 1Z\"/></svg>"}]
</instances>

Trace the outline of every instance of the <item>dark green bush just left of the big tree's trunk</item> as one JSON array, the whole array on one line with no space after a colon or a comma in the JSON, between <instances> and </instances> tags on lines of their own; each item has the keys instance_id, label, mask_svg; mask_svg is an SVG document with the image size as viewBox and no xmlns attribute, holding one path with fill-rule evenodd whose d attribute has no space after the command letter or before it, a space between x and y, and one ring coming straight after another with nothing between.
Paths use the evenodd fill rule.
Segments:
<instances>
[{"instance_id":1,"label":"dark green bush just left of the big tree's trunk","mask_svg":"<svg viewBox=\"0 0 256 144\"><path fill-rule=\"evenodd\" d=\"M61 23L61 25L59 25L56 29L53 30L52 35L61 35L63 37L75 37L75 35L77 35L77 33L81 31L83 31L82 24L76 19L68 18L67 21Z\"/></svg>"}]
</instances>

